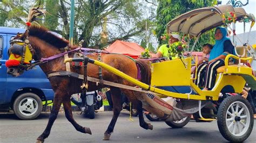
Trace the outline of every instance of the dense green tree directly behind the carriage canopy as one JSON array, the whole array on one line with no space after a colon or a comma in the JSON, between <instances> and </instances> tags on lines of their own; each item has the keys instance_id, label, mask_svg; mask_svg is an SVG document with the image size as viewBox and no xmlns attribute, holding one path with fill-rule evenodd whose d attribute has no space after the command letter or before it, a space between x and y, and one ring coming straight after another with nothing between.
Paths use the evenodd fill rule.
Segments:
<instances>
[{"instance_id":1,"label":"dense green tree directly behind the carriage canopy","mask_svg":"<svg viewBox=\"0 0 256 143\"><path fill-rule=\"evenodd\" d=\"M217 3L217 0L158 0L158 8L157 8L157 27L156 33L158 42L161 45L163 40L161 40L161 35L166 33L166 25L173 18L191 11L193 9L203 8L207 6L213 6ZM200 51L203 44L210 42L212 43L213 39L211 36L213 35L213 31L206 32L205 36L200 37L198 41L198 45L196 47L196 51ZM194 39L190 42L193 44ZM190 45L190 47L191 47Z\"/></svg>"}]
</instances>

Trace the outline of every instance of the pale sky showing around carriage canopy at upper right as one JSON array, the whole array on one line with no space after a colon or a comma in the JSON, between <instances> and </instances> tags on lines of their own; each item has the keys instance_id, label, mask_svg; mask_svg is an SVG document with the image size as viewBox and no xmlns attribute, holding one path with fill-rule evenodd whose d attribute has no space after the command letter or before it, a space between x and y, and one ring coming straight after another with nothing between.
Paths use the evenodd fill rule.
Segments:
<instances>
[{"instance_id":1,"label":"pale sky showing around carriage canopy at upper right","mask_svg":"<svg viewBox=\"0 0 256 143\"><path fill-rule=\"evenodd\" d=\"M221 5L227 4L229 0L222 0ZM247 0L240 0L242 3L246 3ZM252 13L256 16L256 0L249 0L249 4L246 6L242 6L245 9L246 13ZM246 23L245 31L249 32L251 23ZM254 24L252 31L256 30L256 24ZM237 34L244 33L244 23L236 23L235 24L235 31Z\"/></svg>"}]
</instances>

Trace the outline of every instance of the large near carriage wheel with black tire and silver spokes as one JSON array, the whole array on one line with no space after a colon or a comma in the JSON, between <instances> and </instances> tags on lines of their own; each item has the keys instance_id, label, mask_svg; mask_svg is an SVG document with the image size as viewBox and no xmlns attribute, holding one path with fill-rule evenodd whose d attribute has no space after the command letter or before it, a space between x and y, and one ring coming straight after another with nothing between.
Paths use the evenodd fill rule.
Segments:
<instances>
[{"instance_id":1,"label":"large near carriage wheel with black tire and silver spokes","mask_svg":"<svg viewBox=\"0 0 256 143\"><path fill-rule=\"evenodd\" d=\"M217 116L219 131L228 141L242 142L252 132L254 122L252 107L247 99L241 96L225 98L219 106ZM228 123L230 124L228 125ZM228 128L228 126L230 127Z\"/></svg>"}]
</instances>

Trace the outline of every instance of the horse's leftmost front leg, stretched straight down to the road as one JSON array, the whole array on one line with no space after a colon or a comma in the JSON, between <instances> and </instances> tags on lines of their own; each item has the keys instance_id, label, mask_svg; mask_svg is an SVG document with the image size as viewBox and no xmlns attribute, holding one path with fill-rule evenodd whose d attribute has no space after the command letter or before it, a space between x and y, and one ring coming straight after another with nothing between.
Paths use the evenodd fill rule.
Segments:
<instances>
[{"instance_id":1,"label":"horse's leftmost front leg, stretched straight down to the road","mask_svg":"<svg viewBox=\"0 0 256 143\"><path fill-rule=\"evenodd\" d=\"M44 142L44 139L49 136L51 127L58 116L58 112L61 104L62 104L62 98L58 94L55 94L48 124L44 132L37 138L37 142Z\"/></svg>"}]
</instances>

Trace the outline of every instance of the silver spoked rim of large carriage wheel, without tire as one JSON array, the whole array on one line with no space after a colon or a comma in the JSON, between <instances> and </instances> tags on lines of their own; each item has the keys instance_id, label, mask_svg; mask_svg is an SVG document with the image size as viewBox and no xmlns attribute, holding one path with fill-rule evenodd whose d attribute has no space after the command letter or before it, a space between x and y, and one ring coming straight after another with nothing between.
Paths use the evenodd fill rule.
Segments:
<instances>
[{"instance_id":1,"label":"silver spoked rim of large carriage wheel, without tire","mask_svg":"<svg viewBox=\"0 0 256 143\"><path fill-rule=\"evenodd\" d=\"M250 126L250 112L242 102L233 102L227 109L226 125L236 137L244 135Z\"/></svg>"}]
</instances>

